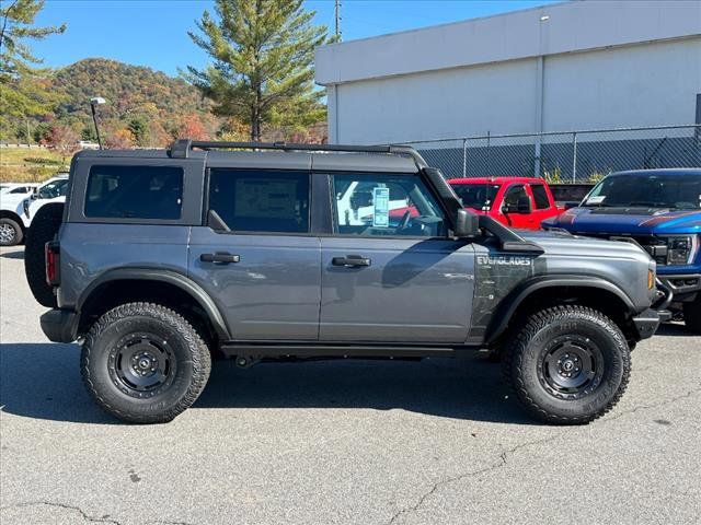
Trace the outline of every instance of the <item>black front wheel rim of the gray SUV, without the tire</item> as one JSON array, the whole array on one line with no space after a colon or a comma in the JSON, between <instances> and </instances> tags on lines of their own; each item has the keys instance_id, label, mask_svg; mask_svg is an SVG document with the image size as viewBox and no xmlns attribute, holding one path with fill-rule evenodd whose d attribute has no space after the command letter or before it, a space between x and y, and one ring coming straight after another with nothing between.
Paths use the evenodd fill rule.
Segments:
<instances>
[{"instance_id":1,"label":"black front wheel rim of the gray SUV, without the tire","mask_svg":"<svg viewBox=\"0 0 701 525\"><path fill-rule=\"evenodd\" d=\"M604 355L588 337L556 338L545 349L540 363L541 383L553 396L578 399L601 383Z\"/></svg>"}]
</instances>

